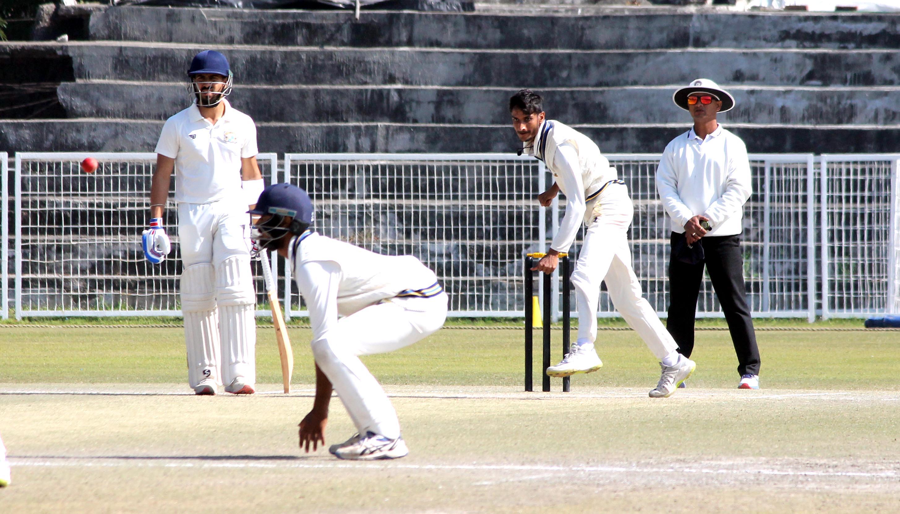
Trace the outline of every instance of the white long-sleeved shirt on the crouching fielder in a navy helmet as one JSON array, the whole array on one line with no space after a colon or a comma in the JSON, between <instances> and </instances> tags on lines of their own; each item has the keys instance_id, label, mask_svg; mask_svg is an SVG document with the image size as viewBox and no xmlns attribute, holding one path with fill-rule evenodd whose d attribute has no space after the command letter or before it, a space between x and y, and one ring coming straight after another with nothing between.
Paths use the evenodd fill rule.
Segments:
<instances>
[{"instance_id":1,"label":"white long-sleeved shirt on the crouching fielder in a navy helmet","mask_svg":"<svg viewBox=\"0 0 900 514\"><path fill-rule=\"evenodd\" d=\"M313 339L338 315L437 283L435 272L413 256L383 256L315 232L291 244L294 281L310 311Z\"/></svg>"}]
</instances>

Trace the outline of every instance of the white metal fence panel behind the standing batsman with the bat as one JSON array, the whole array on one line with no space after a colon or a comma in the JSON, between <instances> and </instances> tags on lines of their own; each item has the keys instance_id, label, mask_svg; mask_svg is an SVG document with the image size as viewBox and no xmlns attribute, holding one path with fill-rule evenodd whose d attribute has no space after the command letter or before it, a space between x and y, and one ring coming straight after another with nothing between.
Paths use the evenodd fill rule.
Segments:
<instances>
[{"instance_id":1,"label":"white metal fence panel behind the standing batsman with the bat","mask_svg":"<svg viewBox=\"0 0 900 514\"><path fill-rule=\"evenodd\" d=\"M93 174L80 168L87 157L100 163ZM154 153L15 155L16 318L181 314L174 208L166 210L170 258L149 264L140 245L156 160ZM272 176L277 156L257 160L263 175ZM265 302L262 278L257 293Z\"/></svg>"}]
</instances>

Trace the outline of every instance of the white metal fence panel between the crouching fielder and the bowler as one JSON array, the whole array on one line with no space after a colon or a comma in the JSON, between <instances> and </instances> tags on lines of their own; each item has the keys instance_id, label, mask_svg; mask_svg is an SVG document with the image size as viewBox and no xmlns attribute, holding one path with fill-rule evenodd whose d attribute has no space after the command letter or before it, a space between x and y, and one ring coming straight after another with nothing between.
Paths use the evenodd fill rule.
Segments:
<instances>
[{"instance_id":1,"label":"white metal fence panel between the crouching fielder and the bowler","mask_svg":"<svg viewBox=\"0 0 900 514\"><path fill-rule=\"evenodd\" d=\"M419 257L451 315L521 316L522 257L543 248L543 163L527 156L287 154L284 181L306 189L325 235ZM302 299L285 270L288 316Z\"/></svg>"}]
</instances>

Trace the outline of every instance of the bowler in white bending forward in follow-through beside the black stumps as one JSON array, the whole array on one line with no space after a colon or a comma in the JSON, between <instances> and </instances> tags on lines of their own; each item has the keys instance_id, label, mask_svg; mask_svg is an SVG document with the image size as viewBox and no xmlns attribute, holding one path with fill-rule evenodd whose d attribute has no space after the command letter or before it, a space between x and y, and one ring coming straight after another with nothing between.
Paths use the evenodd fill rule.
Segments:
<instances>
[{"instance_id":1,"label":"bowler in white bending forward in follow-through beside the black stumps","mask_svg":"<svg viewBox=\"0 0 900 514\"><path fill-rule=\"evenodd\" d=\"M600 283L606 282L609 297L619 313L661 360L662 376L650 396L669 397L694 372L696 365L678 353L675 340L644 299L631 266L627 231L635 208L628 188L593 141L561 122L546 119L542 101L540 95L528 89L509 99L513 128L522 141L523 151L543 160L555 177L554 185L538 195L538 202L549 206L560 191L566 197L560 228L547 255L532 269L553 273L559 254L568 252L572 246L581 221L586 225L581 254L572 272L578 304L578 339L562 362L547 368L547 374L591 373L603 365L594 341Z\"/></svg>"}]
</instances>

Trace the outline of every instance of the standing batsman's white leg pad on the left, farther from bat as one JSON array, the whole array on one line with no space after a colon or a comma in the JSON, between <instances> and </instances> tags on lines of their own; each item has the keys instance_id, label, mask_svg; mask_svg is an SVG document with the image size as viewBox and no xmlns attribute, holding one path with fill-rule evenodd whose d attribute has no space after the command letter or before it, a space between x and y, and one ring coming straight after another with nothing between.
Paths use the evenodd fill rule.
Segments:
<instances>
[{"instance_id":1,"label":"standing batsman's white leg pad on the left, farther from bat","mask_svg":"<svg viewBox=\"0 0 900 514\"><path fill-rule=\"evenodd\" d=\"M181 311L188 383L192 388L206 379L220 384L219 316L215 301L215 271L211 264L184 268Z\"/></svg>"}]
</instances>

